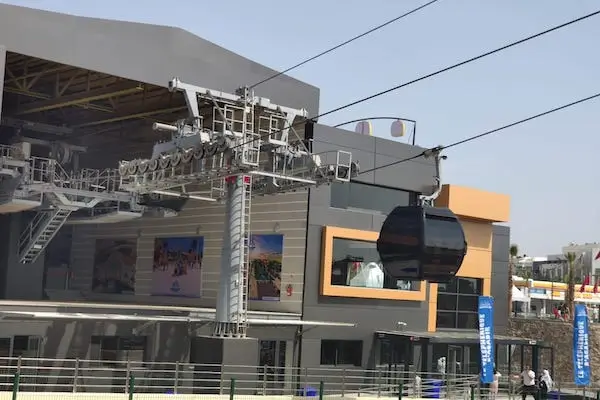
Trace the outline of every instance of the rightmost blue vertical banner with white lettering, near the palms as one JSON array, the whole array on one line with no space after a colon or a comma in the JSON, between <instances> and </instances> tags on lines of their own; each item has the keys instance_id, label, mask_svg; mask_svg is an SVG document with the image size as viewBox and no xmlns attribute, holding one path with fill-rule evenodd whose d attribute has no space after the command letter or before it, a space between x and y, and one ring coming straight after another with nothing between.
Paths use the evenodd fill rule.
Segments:
<instances>
[{"instance_id":1,"label":"rightmost blue vertical banner with white lettering, near the palms","mask_svg":"<svg viewBox=\"0 0 600 400\"><path fill-rule=\"evenodd\" d=\"M583 304L575 306L573 318L573 372L575 384L590 384L590 343L587 309Z\"/></svg>"}]
</instances>

